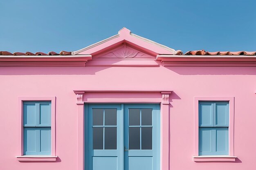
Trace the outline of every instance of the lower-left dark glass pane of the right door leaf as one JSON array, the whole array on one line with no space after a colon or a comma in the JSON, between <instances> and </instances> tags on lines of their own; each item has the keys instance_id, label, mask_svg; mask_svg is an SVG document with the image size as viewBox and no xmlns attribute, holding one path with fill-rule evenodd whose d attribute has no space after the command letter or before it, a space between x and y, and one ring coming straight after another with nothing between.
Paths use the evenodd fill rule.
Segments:
<instances>
[{"instance_id":1,"label":"lower-left dark glass pane of the right door leaf","mask_svg":"<svg viewBox=\"0 0 256 170\"><path fill-rule=\"evenodd\" d=\"M140 149L140 128L129 127L129 149Z\"/></svg>"}]
</instances>

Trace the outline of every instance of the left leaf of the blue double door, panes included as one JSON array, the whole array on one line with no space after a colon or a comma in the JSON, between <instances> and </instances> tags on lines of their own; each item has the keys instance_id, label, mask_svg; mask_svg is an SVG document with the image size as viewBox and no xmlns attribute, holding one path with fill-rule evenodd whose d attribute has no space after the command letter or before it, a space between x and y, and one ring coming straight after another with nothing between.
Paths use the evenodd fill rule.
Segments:
<instances>
[{"instance_id":1,"label":"left leaf of the blue double door, panes included","mask_svg":"<svg viewBox=\"0 0 256 170\"><path fill-rule=\"evenodd\" d=\"M121 104L88 105L89 170L121 170L122 115Z\"/></svg>"}]
</instances>

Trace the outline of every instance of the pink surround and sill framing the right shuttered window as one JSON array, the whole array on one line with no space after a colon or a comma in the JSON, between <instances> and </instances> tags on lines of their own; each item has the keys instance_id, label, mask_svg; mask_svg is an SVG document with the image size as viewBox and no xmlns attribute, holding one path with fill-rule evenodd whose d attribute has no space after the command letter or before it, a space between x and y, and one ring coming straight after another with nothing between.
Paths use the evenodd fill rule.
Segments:
<instances>
[{"instance_id":1,"label":"pink surround and sill framing the right shuttered window","mask_svg":"<svg viewBox=\"0 0 256 170\"><path fill-rule=\"evenodd\" d=\"M198 103L200 101L227 101L229 102L229 155L198 155L198 131L199 113ZM194 156L193 161L236 161L234 156L234 97L194 97Z\"/></svg>"}]
</instances>

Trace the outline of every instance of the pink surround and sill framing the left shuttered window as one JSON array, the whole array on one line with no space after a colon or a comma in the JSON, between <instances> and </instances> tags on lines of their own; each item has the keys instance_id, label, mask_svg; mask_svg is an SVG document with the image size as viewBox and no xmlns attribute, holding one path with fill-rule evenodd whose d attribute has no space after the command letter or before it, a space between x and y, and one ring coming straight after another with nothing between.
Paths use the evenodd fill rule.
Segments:
<instances>
[{"instance_id":1,"label":"pink surround and sill framing the left shuttered window","mask_svg":"<svg viewBox=\"0 0 256 170\"><path fill-rule=\"evenodd\" d=\"M52 139L52 154L51 156L44 155L23 155L23 102L24 101L51 101L51 139ZM18 115L20 124L18 129L20 131L20 155L16 156L18 161L56 161L56 135L55 135L55 114L56 114L56 97L18 97Z\"/></svg>"}]
</instances>

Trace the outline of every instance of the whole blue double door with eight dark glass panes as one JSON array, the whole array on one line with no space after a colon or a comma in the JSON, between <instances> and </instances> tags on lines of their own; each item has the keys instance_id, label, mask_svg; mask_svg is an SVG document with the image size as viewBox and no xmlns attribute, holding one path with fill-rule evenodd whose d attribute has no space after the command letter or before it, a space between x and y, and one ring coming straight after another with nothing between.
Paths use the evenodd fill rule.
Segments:
<instances>
[{"instance_id":1,"label":"whole blue double door with eight dark glass panes","mask_svg":"<svg viewBox=\"0 0 256 170\"><path fill-rule=\"evenodd\" d=\"M159 104L85 104L85 170L159 170Z\"/></svg>"}]
</instances>

